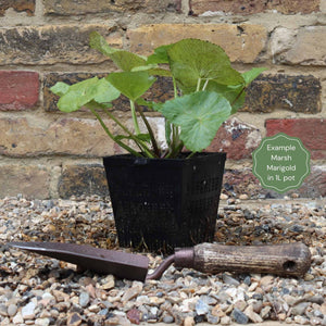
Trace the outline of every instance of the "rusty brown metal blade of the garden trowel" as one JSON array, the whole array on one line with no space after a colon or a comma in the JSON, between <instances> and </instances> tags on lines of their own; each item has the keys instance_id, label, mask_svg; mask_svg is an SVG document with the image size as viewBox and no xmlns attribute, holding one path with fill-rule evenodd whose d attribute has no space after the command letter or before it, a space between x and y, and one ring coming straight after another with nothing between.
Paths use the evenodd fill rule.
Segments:
<instances>
[{"instance_id":1,"label":"rusty brown metal blade of the garden trowel","mask_svg":"<svg viewBox=\"0 0 326 326\"><path fill-rule=\"evenodd\" d=\"M149 259L141 254L61 242L9 242L9 246L76 264L83 269L146 280Z\"/></svg>"}]
</instances>

